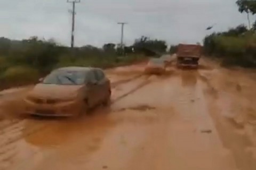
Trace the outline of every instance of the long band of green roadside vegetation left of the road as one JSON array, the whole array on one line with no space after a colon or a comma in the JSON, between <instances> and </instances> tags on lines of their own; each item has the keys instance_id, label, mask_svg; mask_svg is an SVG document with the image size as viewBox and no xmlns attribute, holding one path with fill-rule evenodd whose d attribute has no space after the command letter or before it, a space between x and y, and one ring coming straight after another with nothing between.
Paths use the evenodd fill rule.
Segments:
<instances>
[{"instance_id":1,"label":"long band of green roadside vegetation left of the road","mask_svg":"<svg viewBox=\"0 0 256 170\"><path fill-rule=\"evenodd\" d=\"M102 48L86 45L62 46L53 39L30 37L24 40L0 38L0 89L35 83L53 69L64 66L109 67L140 62L166 51L163 40L141 37L124 50L116 44Z\"/></svg>"}]
</instances>

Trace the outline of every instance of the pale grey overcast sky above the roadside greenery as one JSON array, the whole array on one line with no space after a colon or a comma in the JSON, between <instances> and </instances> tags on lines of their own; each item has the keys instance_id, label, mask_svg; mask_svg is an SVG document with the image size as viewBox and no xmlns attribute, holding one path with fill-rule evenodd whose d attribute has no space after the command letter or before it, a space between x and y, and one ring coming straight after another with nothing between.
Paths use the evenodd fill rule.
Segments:
<instances>
[{"instance_id":1,"label":"pale grey overcast sky above the roadside greenery","mask_svg":"<svg viewBox=\"0 0 256 170\"><path fill-rule=\"evenodd\" d=\"M70 44L71 4L66 0L0 0L0 37L38 36ZM121 25L126 45L142 35L168 44L197 43L211 31L244 23L235 0L81 0L76 5L75 45L119 43ZM205 28L217 23L214 29Z\"/></svg>"}]
</instances>

